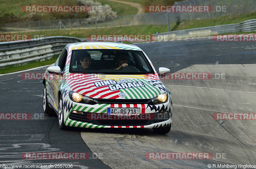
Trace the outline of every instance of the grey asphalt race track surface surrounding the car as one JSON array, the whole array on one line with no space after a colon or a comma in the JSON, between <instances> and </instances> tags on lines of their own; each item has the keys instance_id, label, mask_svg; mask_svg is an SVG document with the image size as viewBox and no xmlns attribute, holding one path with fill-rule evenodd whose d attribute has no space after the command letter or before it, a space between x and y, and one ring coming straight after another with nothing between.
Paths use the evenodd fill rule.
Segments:
<instances>
[{"instance_id":1,"label":"grey asphalt race track surface surrounding the car","mask_svg":"<svg viewBox=\"0 0 256 169\"><path fill-rule=\"evenodd\" d=\"M42 114L41 80L21 73L0 76L0 113L30 113L33 120L0 121L0 164L73 164L73 168L208 168L256 165L256 121L214 120L214 113L256 113L256 45L209 40L138 44L156 68L171 72L225 73L225 79L163 80L172 92L167 135L151 129L60 130ZM28 72L44 72L45 68ZM36 120L38 119L38 120ZM86 160L29 160L23 152L88 152ZM93 153L102 153L93 159ZM210 160L146 159L147 152L210 152ZM218 154L225 153L219 158ZM218 157L217 157L218 156Z\"/></svg>"}]
</instances>

